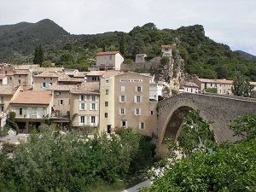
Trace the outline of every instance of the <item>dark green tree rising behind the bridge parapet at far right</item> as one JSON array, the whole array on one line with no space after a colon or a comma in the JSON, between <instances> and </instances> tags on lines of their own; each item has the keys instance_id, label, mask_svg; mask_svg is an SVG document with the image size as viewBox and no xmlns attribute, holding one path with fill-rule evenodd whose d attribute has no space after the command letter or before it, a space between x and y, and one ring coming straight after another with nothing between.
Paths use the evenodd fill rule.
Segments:
<instances>
[{"instance_id":1,"label":"dark green tree rising behind the bridge parapet at far right","mask_svg":"<svg viewBox=\"0 0 256 192\"><path fill-rule=\"evenodd\" d=\"M253 85L239 71L235 72L231 89L235 96L253 96Z\"/></svg>"}]
</instances>

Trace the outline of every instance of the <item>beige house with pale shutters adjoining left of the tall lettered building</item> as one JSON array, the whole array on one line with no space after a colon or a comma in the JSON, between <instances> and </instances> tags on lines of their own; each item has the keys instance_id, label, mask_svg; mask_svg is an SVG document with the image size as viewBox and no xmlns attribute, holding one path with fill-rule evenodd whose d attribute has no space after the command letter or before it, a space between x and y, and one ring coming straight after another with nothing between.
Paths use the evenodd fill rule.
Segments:
<instances>
[{"instance_id":1,"label":"beige house with pale shutters adjoining left of the tall lettered building","mask_svg":"<svg viewBox=\"0 0 256 192\"><path fill-rule=\"evenodd\" d=\"M74 127L98 128L100 114L99 82L86 82L70 90L70 119Z\"/></svg>"}]
</instances>

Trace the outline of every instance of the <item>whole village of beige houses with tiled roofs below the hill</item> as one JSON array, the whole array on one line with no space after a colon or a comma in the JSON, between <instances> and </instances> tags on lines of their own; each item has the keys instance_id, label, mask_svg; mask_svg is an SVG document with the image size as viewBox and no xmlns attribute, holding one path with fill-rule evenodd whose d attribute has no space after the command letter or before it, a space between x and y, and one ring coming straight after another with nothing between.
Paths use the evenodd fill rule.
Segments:
<instances>
[{"instance_id":1,"label":"whole village of beige houses with tiled roofs below the hill","mask_svg":"<svg viewBox=\"0 0 256 192\"><path fill-rule=\"evenodd\" d=\"M172 62L172 45L162 45L161 50ZM136 63L143 63L146 56L136 55ZM108 51L96 54L96 64L89 72L0 64L1 129L9 112L15 112L20 133L29 133L47 121L61 131L90 126L110 133L117 127L131 127L152 136L156 133L157 103L166 95L168 84L149 73L125 72L123 62L119 51ZM218 94L231 95L232 84L226 79L193 79L180 82L177 92L199 94L216 88ZM255 87L256 82L251 84Z\"/></svg>"}]
</instances>

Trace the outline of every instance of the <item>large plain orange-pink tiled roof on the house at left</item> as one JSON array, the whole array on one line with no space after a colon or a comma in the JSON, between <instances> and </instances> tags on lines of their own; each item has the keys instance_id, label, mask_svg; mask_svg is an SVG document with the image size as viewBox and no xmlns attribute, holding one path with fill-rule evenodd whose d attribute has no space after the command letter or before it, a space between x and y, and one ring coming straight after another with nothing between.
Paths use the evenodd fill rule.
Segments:
<instances>
[{"instance_id":1,"label":"large plain orange-pink tiled roof on the house at left","mask_svg":"<svg viewBox=\"0 0 256 192\"><path fill-rule=\"evenodd\" d=\"M13 104L49 104L52 99L50 90L20 91Z\"/></svg>"}]
</instances>

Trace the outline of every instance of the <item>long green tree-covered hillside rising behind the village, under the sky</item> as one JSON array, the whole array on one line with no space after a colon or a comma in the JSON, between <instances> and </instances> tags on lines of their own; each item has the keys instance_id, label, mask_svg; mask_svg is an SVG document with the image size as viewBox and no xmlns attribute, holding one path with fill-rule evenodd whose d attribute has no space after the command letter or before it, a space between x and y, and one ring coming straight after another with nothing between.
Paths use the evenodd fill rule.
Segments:
<instances>
[{"instance_id":1,"label":"long green tree-covered hillside rising behind the village, under the sky","mask_svg":"<svg viewBox=\"0 0 256 192\"><path fill-rule=\"evenodd\" d=\"M86 70L87 58L99 51L120 50L125 60L146 53L148 60L160 55L160 45L172 44L173 58L183 59L185 72L200 78L230 79L235 70L256 81L256 62L218 44L205 36L201 25L182 26L176 30L158 29L154 23L135 26L131 32L105 32L95 35L71 35L52 20L22 22L0 26L0 62L32 61L38 44L44 48L44 60L64 67Z\"/></svg>"}]
</instances>

